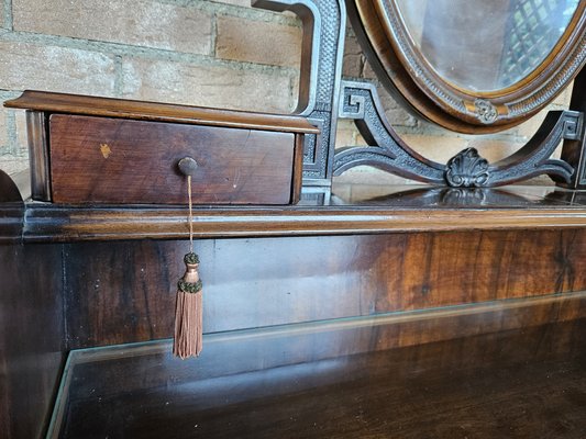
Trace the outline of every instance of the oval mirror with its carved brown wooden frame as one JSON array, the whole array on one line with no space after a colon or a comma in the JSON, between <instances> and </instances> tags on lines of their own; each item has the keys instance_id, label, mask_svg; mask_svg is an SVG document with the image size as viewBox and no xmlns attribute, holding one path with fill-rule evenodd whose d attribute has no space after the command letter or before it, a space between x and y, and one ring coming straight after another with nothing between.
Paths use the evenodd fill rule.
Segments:
<instances>
[{"instance_id":1,"label":"oval mirror with its carved brown wooden frame","mask_svg":"<svg viewBox=\"0 0 586 439\"><path fill-rule=\"evenodd\" d=\"M586 0L347 0L383 85L463 133L515 126L586 59Z\"/></svg>"}]
</instances>

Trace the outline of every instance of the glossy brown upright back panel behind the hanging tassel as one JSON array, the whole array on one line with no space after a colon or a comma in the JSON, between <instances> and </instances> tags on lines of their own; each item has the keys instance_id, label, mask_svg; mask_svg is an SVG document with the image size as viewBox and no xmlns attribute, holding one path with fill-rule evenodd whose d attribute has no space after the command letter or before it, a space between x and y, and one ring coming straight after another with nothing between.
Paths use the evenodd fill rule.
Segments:
<instances>
[{"instance_id":1,"label":"glossy brown upright back panel behind the hanging tassel","mask_svg":"<svg viewBox=\"0 0 586 439\"><path fill-rule=\"evenodd\" d=\"M65 248L71 348L172 335L186 241ZM586 230L576 229L200 240L196 249L207 333L586 290Z\"/></svg>"}]
</instances>

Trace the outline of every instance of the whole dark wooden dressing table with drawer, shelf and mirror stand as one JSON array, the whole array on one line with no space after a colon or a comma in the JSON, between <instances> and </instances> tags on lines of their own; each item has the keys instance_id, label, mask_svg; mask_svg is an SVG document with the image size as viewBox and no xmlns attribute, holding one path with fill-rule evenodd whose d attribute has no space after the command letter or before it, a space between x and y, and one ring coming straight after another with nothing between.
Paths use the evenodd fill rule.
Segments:
<instances>
[{"instance_id":1,"label":"whole dark wooden dressing table with drawer, shelf and mirror stand","mask_svg":"<svg viewBox=\"0 0 586 439\"><path fill-rule=\"evenodd\" d=\"M32 199L0 171L0 438L586 437L584 16L572 47L557 45L561 67L528 76L519 117L576 77L570 111L497 164L468 148L443 165L401 140L372 83L342 80L346 3L399 100L427 110L439 90L462 106L465 124L452 109L444 125L497 131L524 102L462 105L445 81L417 88L424 70L396 75L397 44L368 26L394 0L254 2L303 22L295 116L12 101L30 111ZM334 149L339 116L367 147ZM206 172L194 210L204 346L183 361L169 337L186 146ZM435 185L332 179L364 164ZM574 190L483 187L541 173Z\"/></svg>"}]
</instances>

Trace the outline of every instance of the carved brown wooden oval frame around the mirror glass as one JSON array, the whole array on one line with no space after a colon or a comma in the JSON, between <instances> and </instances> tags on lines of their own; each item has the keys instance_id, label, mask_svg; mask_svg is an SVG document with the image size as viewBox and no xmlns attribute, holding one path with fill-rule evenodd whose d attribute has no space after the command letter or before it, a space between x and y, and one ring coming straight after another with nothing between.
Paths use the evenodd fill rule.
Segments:
<instances>
[{"instance_id":1,"label":"carved brown wooden oval frame around the mirror glass","mask_svg":"<svg viewBox=\"0 0 586 439\"><path fill-rule=\"evenodd\" d=\"M516 126L550 103L586 61L586 1L530 74L512 86L472 91L447 81L413 43L396 0L347 0L349 16L383 86L416 114L467 134Z\"/></svg>"}]
</instances>

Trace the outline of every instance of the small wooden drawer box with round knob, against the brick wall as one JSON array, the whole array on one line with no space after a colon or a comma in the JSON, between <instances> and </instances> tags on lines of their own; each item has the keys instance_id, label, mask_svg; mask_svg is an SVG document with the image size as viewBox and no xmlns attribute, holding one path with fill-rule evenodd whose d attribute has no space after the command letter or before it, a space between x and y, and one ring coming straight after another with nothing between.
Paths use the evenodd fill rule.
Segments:
<instances>
[{"instance_id":1,"label":"small wooden drawer box with round knob, against the brick wall","mask_svg":"<svg viewBox=\"0 0 586 439\"><path fill-rule=\"evenodd\" d=\"M56 203L187 202L177 164L197 162L196 204L299 200L305 134L298 116L25 91L32 195Z\"/></svg>"}]
</instances>

